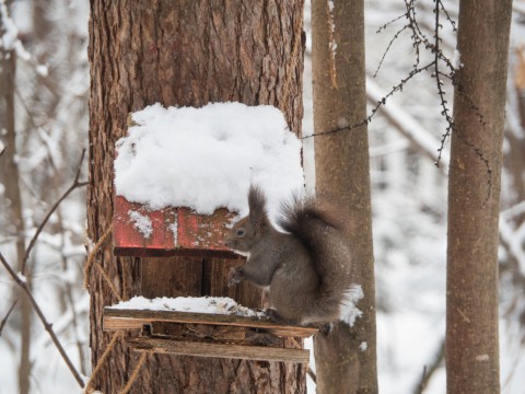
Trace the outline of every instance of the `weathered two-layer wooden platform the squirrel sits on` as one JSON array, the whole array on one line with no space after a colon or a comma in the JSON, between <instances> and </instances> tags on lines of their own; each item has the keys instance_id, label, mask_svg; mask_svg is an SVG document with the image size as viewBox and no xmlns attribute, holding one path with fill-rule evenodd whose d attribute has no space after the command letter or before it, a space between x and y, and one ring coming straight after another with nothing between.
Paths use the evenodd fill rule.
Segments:
<instances>
[{"instance_id":1,"label":"weathered two-layer wooden platform the squirrel sits on","mask_svg":"<svg viewBox=\"0 0 525 394\"><path fill-rule=\"evenodd\" d=\"M136 331L127 339L136 351L300 363L310 358L301 339L317 332L268 318L109 308L104 309L103 327Z\"/></svg>"}]
</instances>

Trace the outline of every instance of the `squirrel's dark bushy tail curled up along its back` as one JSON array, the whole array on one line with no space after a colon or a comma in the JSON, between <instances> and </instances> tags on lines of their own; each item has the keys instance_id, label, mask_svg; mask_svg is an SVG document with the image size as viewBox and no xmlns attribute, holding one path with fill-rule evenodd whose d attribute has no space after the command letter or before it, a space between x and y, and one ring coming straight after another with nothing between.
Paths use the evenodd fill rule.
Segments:
<instances>
[{"instance_id":1,"label":"squirrel's dark bushy tail curled up along its back","mask_svg":"<svg viewBox=\"0 0 525 394\"><path fill-rule=\"evenodd\" d=\"M320 278L318 308L339 306L352 285L352 260L345 237L348 220L335 206L313 197L294 197L282 206L278 224L295 235L313 258Z\"/></svg>"}]
</instances>

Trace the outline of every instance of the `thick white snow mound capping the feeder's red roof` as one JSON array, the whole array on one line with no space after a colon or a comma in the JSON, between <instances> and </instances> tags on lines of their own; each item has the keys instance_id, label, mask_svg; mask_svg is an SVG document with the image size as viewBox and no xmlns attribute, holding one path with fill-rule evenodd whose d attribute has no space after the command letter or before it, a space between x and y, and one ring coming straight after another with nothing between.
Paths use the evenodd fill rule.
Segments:
<instances>
[{"instance_id":1,"label":"thick white snow mound capping the feeder's red roof","mask_svg":"<svg viewBox=\"0 0 525 394\"><path fill-rule=\"evenodd\" d=\"M115 160L116 193L129 201L205 215L224 207L244 216L249 185L256 184L271 215L303 190L301 142L273 106L158 103L133 113L132 120Z\"/></svg>"}]
</instances>

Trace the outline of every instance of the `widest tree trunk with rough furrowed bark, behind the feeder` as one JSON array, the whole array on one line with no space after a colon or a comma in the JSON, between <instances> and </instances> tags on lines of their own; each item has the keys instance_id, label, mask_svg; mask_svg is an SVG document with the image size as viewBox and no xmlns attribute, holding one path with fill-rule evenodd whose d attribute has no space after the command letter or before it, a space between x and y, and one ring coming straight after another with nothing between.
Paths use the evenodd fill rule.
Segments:
<instances>
[{"instance_id":1,"label":"widest tree trunk with rough furrowed bark, behind the feeder","mask_svg":"<svg viewBox=\"0 0 525 394\"><path fill-rule=\"evenodd\" d=\"M112 223L114 147L126 134L129 112L161 102L202 106L238 101L270 104L300 135L303 2L209 0L91 1L90 186L88 231L96 242ZM249 125L246 125L249 127ZM200 296L225 280L224 260L116 258L110 242L97 254L121 293ZM91 347L95 366L108 343L102 312L116 300L90 277ZM205 283L211 278L212 283ZM213 283L214 281L214 283ZM247 289L247 288L246 288ZM217 294L217 293L215 293ZM247 302L246 300L252 300ZM242 302L260 306L249 289ZM95 386L116 393L137 357L117 344ZM133 393L304 393L305 367L211 358L150 355Z\"/></svg>"}]
</instances>

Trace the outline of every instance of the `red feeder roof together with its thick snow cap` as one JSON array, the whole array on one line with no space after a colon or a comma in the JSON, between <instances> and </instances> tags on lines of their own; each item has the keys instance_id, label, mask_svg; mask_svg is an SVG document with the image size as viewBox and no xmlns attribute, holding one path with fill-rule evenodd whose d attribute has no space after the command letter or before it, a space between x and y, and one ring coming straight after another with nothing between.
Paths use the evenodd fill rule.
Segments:
<instances>
[{"instance_id":1,"label":"red feeder roof together with its thick snow cap","mask_svg":"<svg viewBox=\"0 0 525 394\"><path fill-rule=\"evenodd\" d=\"M115 253L225 256L225 225L248 211L250 184L270 217L301 192L301 142L272 106L151 105L131 114L115 160Z\"/></svg>"}]
</instances>

